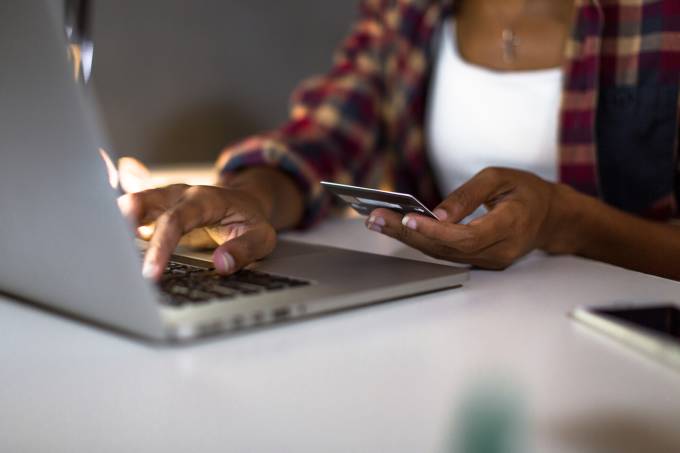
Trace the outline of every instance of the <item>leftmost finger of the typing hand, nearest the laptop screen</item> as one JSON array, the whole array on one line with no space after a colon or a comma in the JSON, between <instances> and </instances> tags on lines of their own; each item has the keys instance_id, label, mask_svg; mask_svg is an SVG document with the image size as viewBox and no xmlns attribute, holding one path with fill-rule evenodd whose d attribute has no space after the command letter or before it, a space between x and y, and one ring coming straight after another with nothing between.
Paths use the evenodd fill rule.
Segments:
<instances>
[{"instance_id":1,"label":"leftmost finger of the typing hand, nearest the laptop screen","mask_svg":"<svg viewBox=\"0 0 680 453\"><path fill-rule=\"evenodd\" d=\"M188 187L185 184L173 184L128 193L118 197L118 207L133 226L147 225L175 204Z\"/></svg>"}]
</instances>

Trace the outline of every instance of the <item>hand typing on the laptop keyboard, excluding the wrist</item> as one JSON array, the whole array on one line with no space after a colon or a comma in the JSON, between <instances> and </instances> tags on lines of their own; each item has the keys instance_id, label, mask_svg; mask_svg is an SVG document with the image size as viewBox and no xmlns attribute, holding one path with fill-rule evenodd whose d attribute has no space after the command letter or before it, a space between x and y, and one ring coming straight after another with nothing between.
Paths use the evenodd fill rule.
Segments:
<instances>
[{"instance_id":1,"label":"hand typing on the laptop keyboard, excluding the wrist","mask_svg":"<svg viewBox=\"0 0 680 453\"><path fill-rule=\"evenodd\" d=\"M218 245L212 259L222 274L264 258L276 246L270 207L248 190L175 184L123 195L118 205L135 227L154 225L144 237L149 247L143 273L151 280L160 279L182 237L202 227Z\"/></svg>"}]
</instances>

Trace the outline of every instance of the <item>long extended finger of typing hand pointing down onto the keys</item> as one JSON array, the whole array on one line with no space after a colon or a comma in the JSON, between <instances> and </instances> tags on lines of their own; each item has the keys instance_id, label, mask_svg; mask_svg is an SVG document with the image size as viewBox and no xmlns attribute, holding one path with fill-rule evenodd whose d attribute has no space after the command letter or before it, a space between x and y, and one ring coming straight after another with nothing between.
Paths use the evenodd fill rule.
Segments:
<instances>
[{"instance_id":1,"label":"long extended finger of typing hand pointing down onto the keys","mask_svg":"<svg viewBox=\"0 0 680 453\"><path fill-rule=\"evenodd\" d=\"M184 197L156 221L144 258L143 274L158 280L182 236L199 226L219 222L229 202L208 187L191 187Z\"/></svg>"}]
</instances>

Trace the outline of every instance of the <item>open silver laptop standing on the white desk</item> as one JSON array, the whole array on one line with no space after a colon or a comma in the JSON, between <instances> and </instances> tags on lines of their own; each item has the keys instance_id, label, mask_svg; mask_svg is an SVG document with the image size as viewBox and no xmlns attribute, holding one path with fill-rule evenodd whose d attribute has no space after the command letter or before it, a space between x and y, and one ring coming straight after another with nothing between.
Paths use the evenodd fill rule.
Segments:
<instances>
[{"instance_id":1,"label":"open silver laptop standing on the white desk","mask_svg":"<svg viewBox=\"0 0 680 453\"><path fill-rule=\"evenodd\" d=\"M200 256L142 277L51 0L0 7L0 292L155 341L241 331L460 286L455 267L280 241L223 277ZM366 234L369 234L368 232Z\"/></svg>"}]
</instances>

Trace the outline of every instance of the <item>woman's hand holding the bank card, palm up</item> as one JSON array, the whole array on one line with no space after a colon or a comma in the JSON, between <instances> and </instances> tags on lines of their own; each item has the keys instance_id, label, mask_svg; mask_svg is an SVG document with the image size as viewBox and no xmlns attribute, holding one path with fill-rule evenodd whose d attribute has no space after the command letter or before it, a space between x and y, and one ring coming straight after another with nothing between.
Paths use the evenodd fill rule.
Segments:
<instances>
[{"instance_id":1,"label":"woman's hand holding the bank card, palm up","mask_svg":"<svg viewBox=\"0 0 680 453\"><path fill-rule=\"evenodd\" d=\"M570 191L524 171L487 168L437 206L439 221L381 208L366 226L434 258L504 269L534 249L571 251L562 237ZM488 213L458 223L481 205Z\"/></svg>"}]
</instances>

